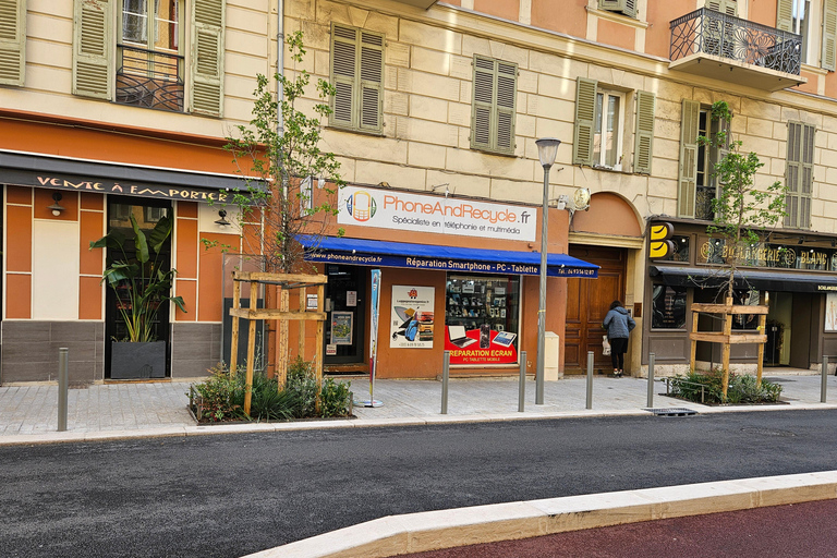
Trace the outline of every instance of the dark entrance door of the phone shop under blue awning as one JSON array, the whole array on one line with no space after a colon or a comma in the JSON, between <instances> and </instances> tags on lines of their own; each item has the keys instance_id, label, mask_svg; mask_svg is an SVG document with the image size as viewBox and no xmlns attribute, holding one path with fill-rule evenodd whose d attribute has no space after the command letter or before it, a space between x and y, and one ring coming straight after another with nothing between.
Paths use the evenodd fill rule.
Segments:
<instances>
[{"instance_id":1,"label":"dark entrance door of the phone shop under blue awning","mask_svg":"<svg viewBox=\"0 0 837 558\"><path fill-rule=\"evenodd\" d=\"M326 366L365 363L366 274L368 268L326 265Z\"/></svg>"}]
</instances>

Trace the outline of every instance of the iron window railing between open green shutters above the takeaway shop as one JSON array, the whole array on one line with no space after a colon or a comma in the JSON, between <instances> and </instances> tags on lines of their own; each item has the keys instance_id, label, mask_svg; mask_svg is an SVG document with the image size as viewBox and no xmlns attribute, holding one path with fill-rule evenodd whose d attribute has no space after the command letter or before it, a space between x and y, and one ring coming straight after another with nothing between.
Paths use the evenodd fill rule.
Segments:
<instances>
[{"instance_id":1,"label":"iron window railing between open green shutters above the takeaway shop","mask_svg":"<svg viewBox=\"0 0 837 558\"><path fill-rule=\"evenodd\" d=\"M117 102L183 112L183 57L117 45Z\"/></svg>"}]
</instances>

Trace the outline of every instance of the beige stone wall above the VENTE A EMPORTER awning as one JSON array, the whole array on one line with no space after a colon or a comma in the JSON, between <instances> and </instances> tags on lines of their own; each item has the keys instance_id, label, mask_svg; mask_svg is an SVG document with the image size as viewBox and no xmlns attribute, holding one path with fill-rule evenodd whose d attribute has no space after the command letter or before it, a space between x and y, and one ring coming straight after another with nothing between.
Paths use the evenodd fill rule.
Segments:
<instances>
[{"instance_id":1,"label":"beige stone wall above the VENTE A EMPORTER awning","mask_svg":"<svg viewBox=\"0 0 837 558\"><path fill-rule=\"evenodd\" d=\"M121 5L112 3L116 9ZM183 4L184 14L189 3ZM276 5L270 9L259 0L227 0L223 119L189 117L189 113L184 117L76 97L72 95L73 1L29 0L27 10L25 84L23 88L0 87L0 107L5 110L226 137L231 125L250 121L255 75L270 75L276 66ZM186 20L184 16L184 23ZM113 39L116 51L116 34ZM189 48L185 56L184 77L189 88Z\"/></svg>"}]
</instances>

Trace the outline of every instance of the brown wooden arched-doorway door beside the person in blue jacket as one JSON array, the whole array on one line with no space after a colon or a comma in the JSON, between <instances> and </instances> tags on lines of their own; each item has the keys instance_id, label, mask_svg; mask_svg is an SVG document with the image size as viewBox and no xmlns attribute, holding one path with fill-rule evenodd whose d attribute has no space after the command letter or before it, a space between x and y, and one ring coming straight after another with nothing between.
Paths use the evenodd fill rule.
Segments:
<instances>
[{"instance_id":1,"label":"brown wooden arched-doorway door beside the person in blue jacket","mask_svg":"<svg viewBox=\"0 0 837 558\"><path fill-rule=\"evenodd\" d=\"M570 255L601 266L598 279L567 280L567 325L563 341L566 374L582 374L587 367L587 351L593 351L596 372L612 369L610 356L602 354L602 322L610 303L624 303L627 254L621 248L570 246Z\"/></svg>"}]
</instances>

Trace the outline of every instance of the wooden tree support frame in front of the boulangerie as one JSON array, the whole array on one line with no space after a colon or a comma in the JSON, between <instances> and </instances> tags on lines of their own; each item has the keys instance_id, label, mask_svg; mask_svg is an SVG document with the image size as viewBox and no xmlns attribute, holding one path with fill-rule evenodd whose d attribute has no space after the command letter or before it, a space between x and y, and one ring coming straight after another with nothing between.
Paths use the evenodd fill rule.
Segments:
<instances>
[{"instance_id":1,"label":"wooden tree support frame in front of the boulangerie","mask_svg":"<svg viewBox=\"0 0 837 558\"><path fill-rule=\"evenodd\" d=\"M732 344L744 343L757 343L759 344L759 363L756 371L756 383L762 385L762 366L764 361L764 343L767 342L767 333L764 326L767 322L768 306L748 306L743 304L733 305L732 299L727 299L726 304L692 304L692 331L689 333L689 339L692 342L692 352L689 361L691 369L694 369L695 353L698 351L698 341L707 341L709 343L723 343L723 389L724 397L727 397L727 388L729 386L729 350ZM698 331L698 315L704 314L721 314L724 316L724 330L723 331ZM759 314L759 331L761 333L733 333L732 332L732 316L741 314Z\"/></svg>"}]
</instances>

